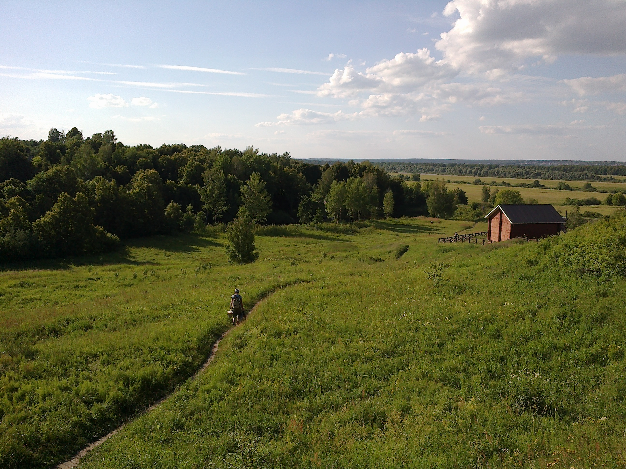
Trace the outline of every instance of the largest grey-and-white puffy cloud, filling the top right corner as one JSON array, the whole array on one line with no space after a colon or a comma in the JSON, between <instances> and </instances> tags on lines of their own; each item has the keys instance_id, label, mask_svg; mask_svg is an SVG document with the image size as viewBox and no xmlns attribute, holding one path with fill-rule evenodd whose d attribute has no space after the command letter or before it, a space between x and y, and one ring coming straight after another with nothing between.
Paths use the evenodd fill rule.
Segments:
<instances>
[{"instance_id":1,"label":"largest grey-and-white puffy cloud, filling the top right corner","mask_svg":"<svg viewBox=\"0 0 626 469\"><path fill-rule=\"evenodd\" d=\"M466 72L508 71L529 58L626 52L626 3L620 0L453 0L459 14L436 48Z\"/></svg>"}]
</instances>

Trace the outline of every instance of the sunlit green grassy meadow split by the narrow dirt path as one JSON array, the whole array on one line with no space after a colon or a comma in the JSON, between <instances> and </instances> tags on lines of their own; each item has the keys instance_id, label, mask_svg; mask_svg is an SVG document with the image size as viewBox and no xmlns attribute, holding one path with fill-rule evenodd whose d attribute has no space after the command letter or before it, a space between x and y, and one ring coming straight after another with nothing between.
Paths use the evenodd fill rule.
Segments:
<instances>
[{"instance_id":1,"label":"sunlit green grassy meadow split by the narrow dirt path","mask_svg":"<svg viewBox=\"0 0 626 469\"><path fill-rule=\"evenodd\" d=\"M545 243L436 244L471 225L264 228L247 266L221 235L152 238L91 273L4 272L3 291L46 287L0 298L0 465L52 466L175 390L80 467L623 466L626 282L562 271ZM46 296L96 268L98 288ZM235 286L284 288L185 381Z\"/></svg>"}]
</instances>

